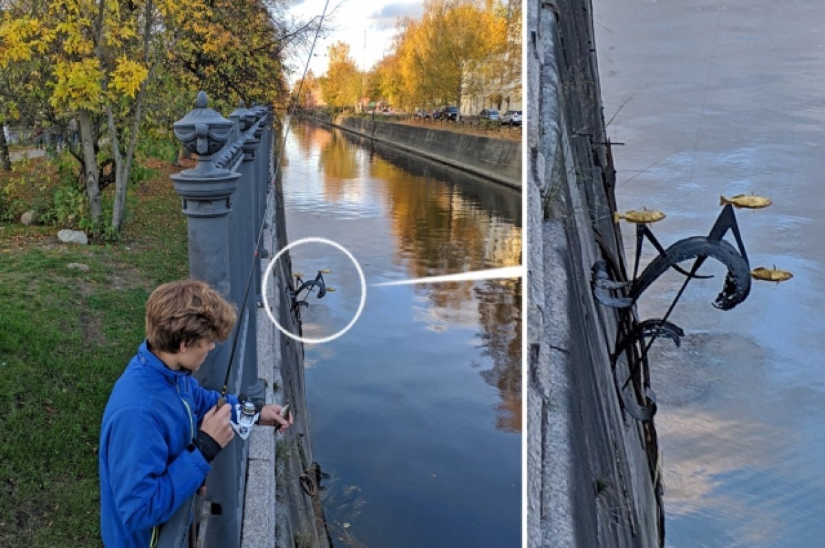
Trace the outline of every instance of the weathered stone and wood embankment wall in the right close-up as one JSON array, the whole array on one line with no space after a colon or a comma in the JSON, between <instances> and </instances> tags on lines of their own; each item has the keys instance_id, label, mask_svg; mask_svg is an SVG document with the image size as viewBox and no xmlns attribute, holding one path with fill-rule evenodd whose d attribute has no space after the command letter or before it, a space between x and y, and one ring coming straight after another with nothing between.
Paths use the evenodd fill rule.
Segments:
<instances>
[{"instance_id":1,"label":"weathered stone and wood embankment wall in the right close-up","mask_svg":"<svg viewBox=\"0 0 825 548\"><path fill-rule=\"evenodd\" d=\"M662 546L656 433L621 407L617 314L590 285L598 259L624 270L591 2L527 17L528 546Z\"/></svg>"}]
</instances>

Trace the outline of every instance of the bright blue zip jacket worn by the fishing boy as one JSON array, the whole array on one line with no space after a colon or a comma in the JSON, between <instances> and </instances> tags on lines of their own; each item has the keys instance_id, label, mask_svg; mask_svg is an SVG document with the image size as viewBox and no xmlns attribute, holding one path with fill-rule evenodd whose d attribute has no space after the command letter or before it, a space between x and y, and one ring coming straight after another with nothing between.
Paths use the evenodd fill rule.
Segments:
<instances>
[{"instance_id":1,"label":"bright blue zip jacket worn by the fishing boy","mask_svg":"<svg viewBox=\"0 0 825 548\"><path fill-rule=\"evenodd\" d=\"M211 466L191 441L219 395L140 345L111 391L101 425L101 535L107 548L148 548L154 527L203 484ZM228 396L227 403L234 409L238 399Z\"/></svg>"}]
</instances>

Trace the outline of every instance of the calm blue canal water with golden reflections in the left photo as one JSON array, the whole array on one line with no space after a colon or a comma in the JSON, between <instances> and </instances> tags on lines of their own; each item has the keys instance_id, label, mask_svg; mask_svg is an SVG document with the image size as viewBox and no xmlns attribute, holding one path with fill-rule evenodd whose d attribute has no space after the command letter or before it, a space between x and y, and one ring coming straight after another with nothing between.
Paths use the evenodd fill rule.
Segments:
<instances>
[{"instance_id":1,"label":"calm blue canal water with golden reflections in the left photo","mask_svg":"<svg viewBox=\"0 0 825 548\"><path fill-rule=\"evenodd\" d=\"M293 121L290 242L360 265L363 312L305 347L315 460L335 546L521 546L521 281L374 286L521 264L521 193L341 130ZM304 337L346 328L361 282L345 253L290 249L335 292Z\"/></svg>"}]
</instances>

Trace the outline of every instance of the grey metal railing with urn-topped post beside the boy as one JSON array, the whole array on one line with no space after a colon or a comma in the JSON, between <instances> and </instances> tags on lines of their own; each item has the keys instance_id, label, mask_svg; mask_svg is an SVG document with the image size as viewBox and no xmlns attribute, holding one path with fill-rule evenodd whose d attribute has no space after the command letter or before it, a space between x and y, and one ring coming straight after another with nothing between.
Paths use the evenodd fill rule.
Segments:
<instances>
[{"instance_id":1,"label":"grey metal railing with urn-topped post beside the boy","mask_svg":"<svg viewBox=\"0 0 825 548\"><path fill-rule=\"evenodd\" d=\"M260 259L268 254L261 235L273 177L273 119L270 108L247 109L243 102L224 118L199 92L196 108L173 125L177 139L198 158L195 168L172 175L187 217L190 276L238 307L235 331L194 376L207 389L220 391L226 380L230 394L258 400L265 387L257 375L256 308L262 304ZM181 548L193 512L197 546L240 546L247 453L239 438L220 451L205 496L184 503L162 527L158 548Z\"/></svg>"}]
</instances>

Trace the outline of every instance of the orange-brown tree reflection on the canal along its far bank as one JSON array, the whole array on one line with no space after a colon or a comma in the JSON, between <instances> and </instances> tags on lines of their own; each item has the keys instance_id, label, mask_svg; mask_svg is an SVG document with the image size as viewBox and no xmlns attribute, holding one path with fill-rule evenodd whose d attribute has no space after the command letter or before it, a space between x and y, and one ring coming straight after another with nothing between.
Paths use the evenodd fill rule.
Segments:
<instances>
[{"instance_id":1,"label":"orange-brown tree reflection on the canal along its far bank","mask_svg":"<svg viewBox=\"0 0 825 548\"><path fill-rule=\"evenodd\" d=\"M521 227L499 216L494 201L480 206L483 190L468 193L466 185L455 182L411 185L408 173L423 172L420 166L427 163L388 150L384 154L390 159L374 156L371 172L389 182L386 200L399 242L394 260L406 267L408 277L521 264ZM483 183L473 188L479 187L489 188ZM483 344L493 358L493 368L482 377L502 394L497 427L521 432L521 280L433 284L416 291L427 295L437 316L450 323L461 321L465 303L477 303L472 321L480 323Z\"/></svg>"}]
</instances>

